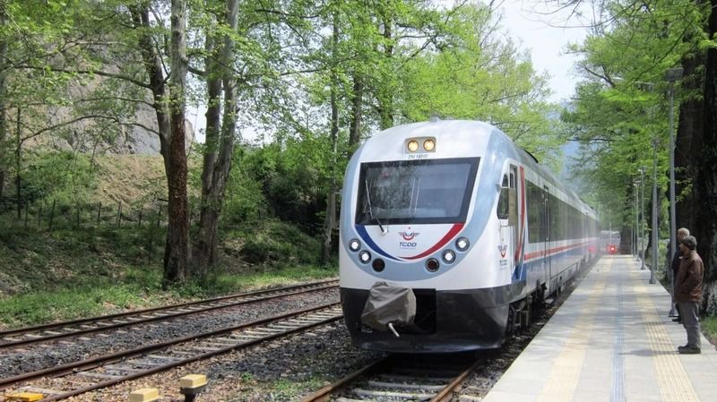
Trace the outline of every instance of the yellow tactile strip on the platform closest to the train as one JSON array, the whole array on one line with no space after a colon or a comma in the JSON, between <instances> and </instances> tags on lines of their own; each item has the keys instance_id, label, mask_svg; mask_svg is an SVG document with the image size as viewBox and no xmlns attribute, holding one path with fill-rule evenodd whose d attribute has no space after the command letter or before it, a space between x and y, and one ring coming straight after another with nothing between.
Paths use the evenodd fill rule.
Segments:
<instances>
[{"instance_id":1,"label":"yellow tactile strip on the platform closest to the train","mask_svg":"<svg viewBox=\"0 0 717 402\"><path fill-rule=\"evenodd\" d=\"M612 260L609 260L607 269L593 270L592 275L600 274L600 278L592 284L588 300L583 305L578 320L557 355L548 380L545 381L543 388L540 389L540 394L536 399L537 402L573 400L580 374L583 372L585 354L588 346L590 346L592 326L595 323L596 312L600 305L598 302L605 290L605 278L609 275L611 269Z\"/></svg>"}]
</instances>

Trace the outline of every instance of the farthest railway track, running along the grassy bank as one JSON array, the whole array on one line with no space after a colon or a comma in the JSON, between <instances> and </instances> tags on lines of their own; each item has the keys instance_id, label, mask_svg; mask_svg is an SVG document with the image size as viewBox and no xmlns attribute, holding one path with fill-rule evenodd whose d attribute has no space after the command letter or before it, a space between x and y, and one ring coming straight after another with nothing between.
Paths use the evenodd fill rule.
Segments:
<instances>
[{"instance_id":1,"label":"farthest railway track, running along the grassy bank","mask_svg":"<svg viewBox=\"0 0 717 402\"><path fill-rule=\"evenodd\" d=\"M238 295L227 295L183 304L172 304L133 312L100 315L80 320L53 322L21 329L0 331L0 350L39 344L49 340L80 337L91 333L104 332L111 329L149 323L152 321L169 321L179 317L213 310L235 307L271 300L287 295L299 295L316 290L336 287L338 280L325 280L311 284L267 289L247 292Z\"/></svg>"}]
</instances>

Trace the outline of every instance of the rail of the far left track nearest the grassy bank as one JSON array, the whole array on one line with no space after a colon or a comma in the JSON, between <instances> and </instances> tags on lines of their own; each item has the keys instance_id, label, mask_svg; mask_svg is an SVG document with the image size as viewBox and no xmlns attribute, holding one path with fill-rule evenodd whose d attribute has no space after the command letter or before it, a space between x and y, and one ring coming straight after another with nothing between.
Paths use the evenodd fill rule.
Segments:
<instances>
[{"instance_id":1,"label":"rail of the far left track nearest the grassy bank","mask_svg":"<svg viewBox=\"0 0 717 402\"><path fill-rule=\"evenodd\" d=\"M325 284L329 284L329 283L333 283L333 282L338 282L338 279L327 279L327 280L322 280L322 281L318 281L318 282L311 282L311 283L305 283L305 284L300 284L300 285L292 285L290 287L276 287L273 289L254 290L254 291L246 292L246 293L238 293L238 294L234 294L234 295L212 297L211 299L196 300L194 302L168 304L168 305L162 305L162 306L158 306L158 307L150 307L150 308L146 308L146 309L133 310L131 312L116 312L113 314L97 315L94 317L86 317L86 318L81 318L81 319L71 320L71 321L49 322L47 324L39 324L39 325L31 326L31 327L22 327L22 328L18 328L18 329L4 329L4 330L0 330L0 338L13 337L13 336L17 336L17 335L22 335L23 333L27 333L27 332L37 332L37 331L46 330L46 329L58 329L58 328L63 328L63 327L71 327L73 325L86 324L88 322L114 320L117 318L124 318L124 317L128 317L128 316L133 316L133 315L146 314L147 312L159 312L161 310L177 309L177 308L188 307L188 306L192 306L192 305L196 305L196 304L216 303L216 302L221 302L224 300L235 299L238 297L246 297L246 296L252 296L252 295L264 295L267 293L281 292L282 290L291 290L291 289L297 289L300 287L310 287L310 286L314 286L314 285L321 286L321 285L325 285Z\"/></svg>"}]
</instances>

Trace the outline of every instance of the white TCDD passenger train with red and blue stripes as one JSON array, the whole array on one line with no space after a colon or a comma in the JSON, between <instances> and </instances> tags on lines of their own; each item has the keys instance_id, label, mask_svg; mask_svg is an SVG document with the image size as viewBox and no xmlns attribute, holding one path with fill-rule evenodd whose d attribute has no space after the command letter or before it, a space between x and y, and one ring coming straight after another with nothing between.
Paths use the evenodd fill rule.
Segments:
<instances>
[{"instance_id":1,"label":"white TCDD passenger train with red and blue stripes","mask_svg":"<svg viewBox=\"0 0 717 402\"><path fill-rule=\"evenodd\" d=\"M497 127L402 124L350 158L339 286L354 345L500 347L597 257L594 210Z\"/></svg>"}]
</instances>

